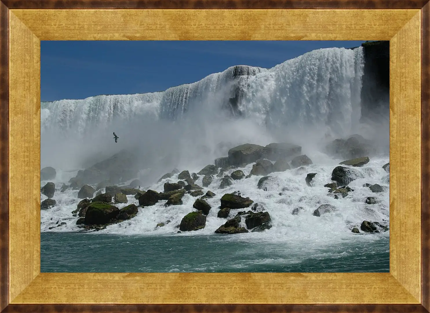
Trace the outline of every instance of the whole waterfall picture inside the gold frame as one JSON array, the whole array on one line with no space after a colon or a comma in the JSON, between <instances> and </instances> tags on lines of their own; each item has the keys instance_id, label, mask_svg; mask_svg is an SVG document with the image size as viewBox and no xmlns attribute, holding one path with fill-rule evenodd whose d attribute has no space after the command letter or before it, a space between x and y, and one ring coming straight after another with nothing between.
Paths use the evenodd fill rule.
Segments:
<instances>
[{"instance_id":1,"label":"whole waterfall picture inside the gold frame","mask_svg":"<svg viewBox=\"0 0 430 313\"><path fill-rule=\"evenodd\" d=\"M388 41L42 41L42 272L388 272Z\"/></svg>"}]
</instances>

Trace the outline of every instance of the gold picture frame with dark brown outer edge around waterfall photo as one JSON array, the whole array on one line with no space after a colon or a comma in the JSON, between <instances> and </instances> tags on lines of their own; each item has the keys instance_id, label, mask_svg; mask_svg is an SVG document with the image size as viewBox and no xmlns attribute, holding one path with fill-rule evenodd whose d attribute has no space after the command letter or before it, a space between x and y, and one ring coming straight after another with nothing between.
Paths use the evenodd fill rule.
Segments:
<instances>
[{"instance_id":1,"label":"gold picture frame with dark brown outer edge around waterfall photo","mask_svg":"<svg viewBox=\"0 0 430 313\"><path fill-rule=\"evenodd\" d=\"M2 0L0 18L1 310L430 310L427 1ZM390 272L41 273L41 40L389 40Z\"/></svg>"}]
</instances>

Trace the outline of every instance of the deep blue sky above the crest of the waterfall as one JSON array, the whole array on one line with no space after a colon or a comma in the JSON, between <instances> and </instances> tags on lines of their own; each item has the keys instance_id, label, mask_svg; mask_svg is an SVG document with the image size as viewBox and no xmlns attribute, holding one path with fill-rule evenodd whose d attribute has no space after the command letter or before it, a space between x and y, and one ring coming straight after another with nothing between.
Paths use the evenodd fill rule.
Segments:
<instances>
[{"instance_id":1,"label":"deep blue sky above the crest of the waterfall","mask_svg":"<svg viewBox=\"0 0 430 313\"><path fill-rule=\"evenodd\" d=\"M272 68L320 48L364 41L42 41L41 101L133 94L194 83L244 64Z\"/></svg>"}]
</instances>

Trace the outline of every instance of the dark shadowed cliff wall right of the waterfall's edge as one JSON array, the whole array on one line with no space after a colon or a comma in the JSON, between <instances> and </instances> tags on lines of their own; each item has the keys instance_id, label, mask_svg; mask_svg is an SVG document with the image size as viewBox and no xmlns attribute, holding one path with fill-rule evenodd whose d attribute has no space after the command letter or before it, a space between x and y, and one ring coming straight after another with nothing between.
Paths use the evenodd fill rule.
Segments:
<instances>
[{"instance_id":1,"label":"dark shadowed cliff wall right of the waterfall's edge","mask_svg":"<svg viewBox=\"0 0 430 313\"><path fill-rule=\"evenodd\" d=\"M364 74L361 120L378 120L390 114L390 41L363 43Z\"/></svg>"}]
</instances>

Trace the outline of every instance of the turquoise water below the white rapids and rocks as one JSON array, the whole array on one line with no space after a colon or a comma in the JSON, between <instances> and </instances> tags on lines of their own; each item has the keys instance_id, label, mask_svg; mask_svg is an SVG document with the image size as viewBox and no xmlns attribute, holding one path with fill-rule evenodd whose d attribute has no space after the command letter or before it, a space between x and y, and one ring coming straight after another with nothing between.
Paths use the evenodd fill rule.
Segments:
<instances>
[{"instance_id":1,"label":"turquoise water below the white rapids and rocks","mask_svg":"<svg viewBox=\"0 0 430 313\"><path fill-rule=\"evenodd\" d=\"M372 241L289 249L217 234L43 232L41 272L389 272L389 236L370 236Z\"/></svg>"}]
</instances>

